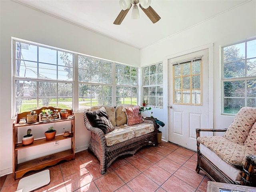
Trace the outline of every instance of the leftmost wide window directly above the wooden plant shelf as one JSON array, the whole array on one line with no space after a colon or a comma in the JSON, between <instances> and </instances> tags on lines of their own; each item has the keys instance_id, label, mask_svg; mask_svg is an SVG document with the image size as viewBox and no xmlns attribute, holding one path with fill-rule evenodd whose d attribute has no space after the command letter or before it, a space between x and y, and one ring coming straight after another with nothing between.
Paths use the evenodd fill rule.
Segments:
<instances>
[{"instance_id":1,"label":"leftmost wide window directly above the wooden plant shelf","mask_svg":"<svg viewBox=\"0 0 256 192\"><path fill-rule=\"evenodd\" d=\"M15 41L15 110L73 106L74 54Z\"/></svg>"}]
</instances>

